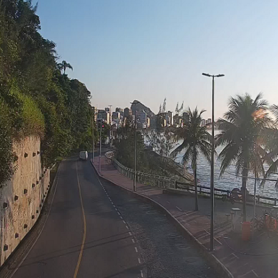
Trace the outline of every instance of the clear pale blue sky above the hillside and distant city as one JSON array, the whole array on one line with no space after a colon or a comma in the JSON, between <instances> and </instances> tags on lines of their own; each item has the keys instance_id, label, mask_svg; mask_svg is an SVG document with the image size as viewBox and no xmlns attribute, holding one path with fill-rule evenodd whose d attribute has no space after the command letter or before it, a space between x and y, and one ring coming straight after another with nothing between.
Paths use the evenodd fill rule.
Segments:
<instances>
[{"instance_id":1,"label":"clear pale blue sky above the hillside and distant city","mask_svg":"<svg viewBox=\"0 0 278 278\"><path fill-rule=\"evenodd\" d=\"M229 96L263 92L278 104L278 1L40 0L41 33L74 67L69 76L104 108L142 101L155 113L167 98L215 114Z\"/></svg>"}]
</instances>

